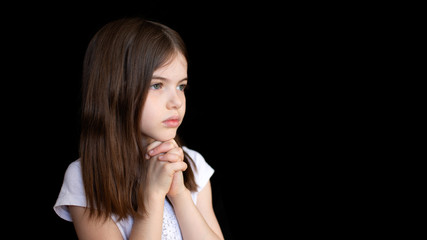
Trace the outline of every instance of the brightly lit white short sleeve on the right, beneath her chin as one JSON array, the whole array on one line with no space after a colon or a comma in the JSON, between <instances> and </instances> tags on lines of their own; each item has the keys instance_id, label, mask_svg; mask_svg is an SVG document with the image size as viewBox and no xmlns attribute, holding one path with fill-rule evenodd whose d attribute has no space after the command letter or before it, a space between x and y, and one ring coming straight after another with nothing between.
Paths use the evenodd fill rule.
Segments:
<instances>
[{"instance_id":1,"label":"brightly lit white short sleeve on the right, beneath her chin","mask_svg":"<svg viewBox=\"0 0 427 240\"><path fill-rule=\"evenodd\" d=\"M203 156L199 152L189 149L187 147L183 147L183 150L187 152L188 155L190 155L191 159L193 159L194 165L196 166L195 169L193 168L193 173L194 173L194 179L197 184L197 191L192 192L191 194L193 197L194 203L196 203L198 193L209 182L210 178L214 173L214 169L206 162L206 160L203 158Z\"/></svg>"}]
</instances>

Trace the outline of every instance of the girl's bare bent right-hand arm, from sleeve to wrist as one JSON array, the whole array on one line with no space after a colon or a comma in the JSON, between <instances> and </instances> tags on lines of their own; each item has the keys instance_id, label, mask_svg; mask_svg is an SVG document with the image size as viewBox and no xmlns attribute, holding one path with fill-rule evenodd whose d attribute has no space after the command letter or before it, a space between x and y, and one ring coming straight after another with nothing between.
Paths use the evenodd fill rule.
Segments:
<instances>
[{"instance_id":1,"label":"girl's bare bent right-hand arm, from sleeve to wrist","mask_svg":"<svg viewBox=\"0 0 427 240\"><path fill-rule=\"evenodd\" d=\"M169 199L184 239L224 239L212 206L210 182L199 192L197 205L189 190Z\"/></svg>"}]
</instances>

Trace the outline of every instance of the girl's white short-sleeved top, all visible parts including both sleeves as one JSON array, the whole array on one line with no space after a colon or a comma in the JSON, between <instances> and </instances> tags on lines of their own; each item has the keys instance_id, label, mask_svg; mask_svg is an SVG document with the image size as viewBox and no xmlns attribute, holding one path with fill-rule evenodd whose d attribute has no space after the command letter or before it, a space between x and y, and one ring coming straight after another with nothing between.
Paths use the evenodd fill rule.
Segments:
<instances>
[{"instance_id":1,"label":"girl's white short-sleeved top, all visible parts including both sleeves","mask_svg":"<svg viewBox=\"0 0 427 240\"><path fill-rule=\"evenodd\" d=\"M196 192L191 192L191 197L196 204L197 195L208 183L209 179L214 173L214 169L209 166L200 153L187 147L183 147L183 150L193 159L197 169L193 172L198 188ZM86 196L83 187L79 159L75 160L68 166L67 171L65 172L61 191L53 207L58 216L72 222L71 215L68 210L69 205L86 207ZM132 230L133 218L128 217L121 221L117 221L117 216L112 215L111 217L114 222L116 222L123 239L128 239ZM165 200L165 207L163 211L162 240L168 239L182 239L182 235L173 207L167 200Z\"/></svg>"}]
</instances>

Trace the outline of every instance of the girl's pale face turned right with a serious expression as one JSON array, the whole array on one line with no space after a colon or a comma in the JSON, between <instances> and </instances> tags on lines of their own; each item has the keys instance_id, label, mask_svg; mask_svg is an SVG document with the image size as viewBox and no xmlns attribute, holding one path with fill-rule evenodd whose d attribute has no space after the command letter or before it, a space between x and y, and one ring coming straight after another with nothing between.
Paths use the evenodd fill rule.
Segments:
<instances>
[{"instance_id":1,"label":"girl's pale face turned right with a serious expression","mask_svg":"<svg viewBox=\"0 0 427 240\"><path fill-rule=\"evenodd\" d=\"M180 53L154 71L142 110L140 129L143 134L157 141L176 136L185 114L186 86L187 61Z\"/></svg>"}]
</instances>

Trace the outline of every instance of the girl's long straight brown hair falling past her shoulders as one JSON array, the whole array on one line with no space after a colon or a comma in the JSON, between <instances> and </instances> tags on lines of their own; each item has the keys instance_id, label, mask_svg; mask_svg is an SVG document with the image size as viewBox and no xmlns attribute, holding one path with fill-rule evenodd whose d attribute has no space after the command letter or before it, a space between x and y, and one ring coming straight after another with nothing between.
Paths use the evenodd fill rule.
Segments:
<instances>
[{"instance_id":1,"label":"girl's long straight brown hair falling past her shoulders","mask_svg":"<svg viewBox=\"0 0 427 240\"><path fill-rule=\"evenodd\" d=\"M90 216L122 219L145 212L146 144L139 123L153 72L178 52L188 59L176 31L141 18L110 22L91 39L83 65L80 136ZM185 156L185 185L194 191L192 160Z\"/></svg>"}]
</instances>

